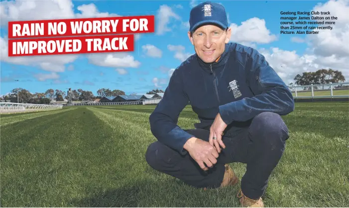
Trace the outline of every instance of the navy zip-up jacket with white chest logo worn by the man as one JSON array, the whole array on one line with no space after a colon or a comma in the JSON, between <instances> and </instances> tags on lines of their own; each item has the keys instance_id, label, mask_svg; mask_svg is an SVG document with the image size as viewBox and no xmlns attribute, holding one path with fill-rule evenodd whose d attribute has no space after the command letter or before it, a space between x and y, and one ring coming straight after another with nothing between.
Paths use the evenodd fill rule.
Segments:
<instances>
[{"instance_id":1,"label":"navy zip-up jacket with white chest logo worn by the man","mask_svg":"<svg viewBox=\"0 0 349 208\"><path fill-rule=\"evenodd\" d=\"M163 144L183 149L193 135L177 125L190 102L200 123L210 129L218 113L228 125L225 136L249 126L261 112L286 115L294 110L292 93L257 50L237 43L226 44L218 62L207 64L196 54L174 70L164 96L149 116L153 135Z\"/></svg>"}]
</instances>

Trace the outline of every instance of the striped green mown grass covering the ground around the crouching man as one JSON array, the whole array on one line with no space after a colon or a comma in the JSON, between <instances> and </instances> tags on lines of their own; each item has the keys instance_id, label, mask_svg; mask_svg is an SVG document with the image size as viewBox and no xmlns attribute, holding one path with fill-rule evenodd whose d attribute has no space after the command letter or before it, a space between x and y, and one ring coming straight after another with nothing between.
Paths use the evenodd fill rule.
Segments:
<instances>
[{"instance_id":1,"label":"striped green mown grass covering the ground around the crouching man","mask_svg":"<svg viewBox=\"0 0 349 208\"><path fill-rule=\"evenodd\" d=\"M265 207L348 207L349 103L296 103ZM154 105L1 115L1 207L239 207L239 185L203 191L152 170ZM193 128L187 106L179 125ZM231 167L242 177L246 166Z\"/></svg>"}]
</instances>

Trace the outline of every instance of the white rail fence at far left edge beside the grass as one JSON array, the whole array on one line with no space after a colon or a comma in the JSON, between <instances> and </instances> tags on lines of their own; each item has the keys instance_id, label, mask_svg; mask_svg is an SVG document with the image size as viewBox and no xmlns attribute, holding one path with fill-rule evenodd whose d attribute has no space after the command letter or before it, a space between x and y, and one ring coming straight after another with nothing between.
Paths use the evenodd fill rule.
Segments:
<instances>
[{"instance_id":1,"label":"white rail fence at far left edge beside the grass","mask_svg":"<svg viewBox=\"0 0 349 208\"><path fill-rule=\"evenodd\" d=\"M62 109L63 105L0 103L1 113Z\"/></svg>"}]
</instances>

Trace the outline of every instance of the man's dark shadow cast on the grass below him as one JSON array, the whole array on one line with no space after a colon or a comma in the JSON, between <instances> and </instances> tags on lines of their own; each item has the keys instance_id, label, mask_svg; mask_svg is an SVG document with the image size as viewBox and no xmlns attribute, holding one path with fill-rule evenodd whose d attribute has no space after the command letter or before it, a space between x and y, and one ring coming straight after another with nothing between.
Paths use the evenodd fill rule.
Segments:
<instances>
[{"instance_id":1,"label":"man's dark shadow cast on the grass below him","mask_svg":"<svg viewBox=\"0 0 349 208\"><path fill-rule=\"evenodd\" d=\"M182 181L145 169L145 178L129 181L117 189L94 190L90 197L74 199L69 207L236 207L238 187L223 190L196 189ZM149 178L148 178L149 177Z\"/></svg>"}]
</instances>

